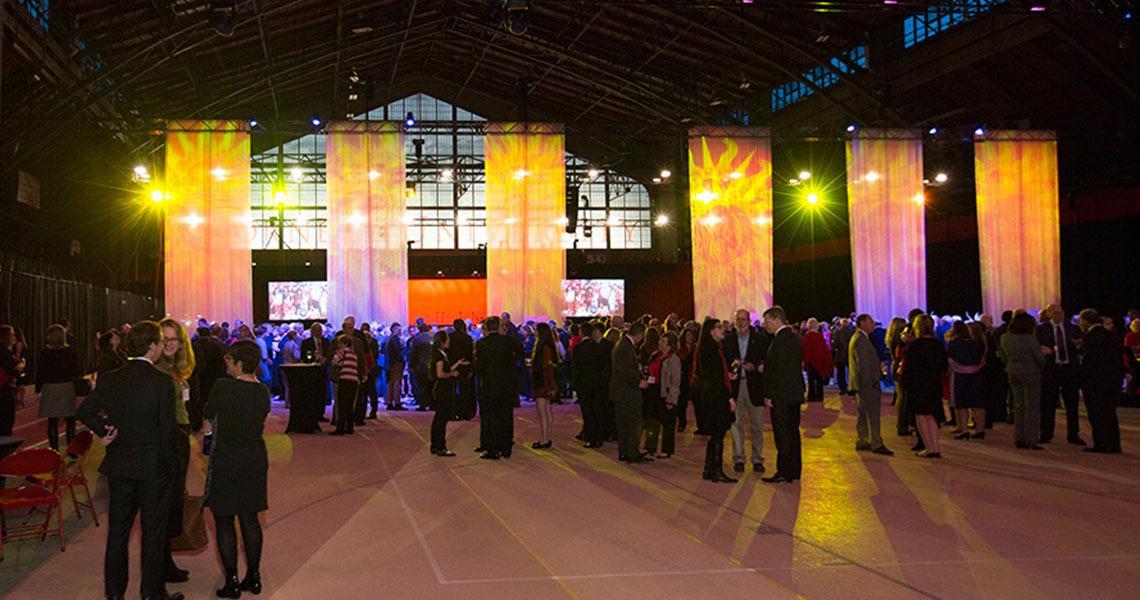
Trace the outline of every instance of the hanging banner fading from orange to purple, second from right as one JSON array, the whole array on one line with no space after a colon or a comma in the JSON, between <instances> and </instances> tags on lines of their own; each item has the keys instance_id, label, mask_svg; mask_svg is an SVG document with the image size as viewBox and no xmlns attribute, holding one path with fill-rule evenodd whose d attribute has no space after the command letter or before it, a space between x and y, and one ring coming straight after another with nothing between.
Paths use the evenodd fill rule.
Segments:
<instances>
[{"instance_id":1,"label":"hanging banner fading from orange to purple, second from right","mask_svg":"<svg viewBox=\"0 0 1140 600\"><path fill-rule=\"evenodd\" d=\"M926 310L920 131L865 129L847 141L855 310L880 323Z\"/></svg>"}]
</instances>

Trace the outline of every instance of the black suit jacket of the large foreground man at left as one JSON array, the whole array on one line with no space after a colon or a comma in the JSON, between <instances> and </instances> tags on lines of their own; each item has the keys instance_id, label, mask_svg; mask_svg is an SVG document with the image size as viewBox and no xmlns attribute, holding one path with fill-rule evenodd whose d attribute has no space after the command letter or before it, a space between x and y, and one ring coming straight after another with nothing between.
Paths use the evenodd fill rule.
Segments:
<instances>
[{"instance_id":1,"label":"black suit jacket of the large foreground man at left","mask_svg":"<svg viewBox=\"0 0 1140 600\"><path fill-rule=\"evenodd\" d=\"M174 381L146 360L99 374L95 390L75 415L96 436L114 425L119 437L107 446L99 472L127 479L155 479L178 465ZM106 416L103 416L106 415Z\"/></svg>"}]
</instances>

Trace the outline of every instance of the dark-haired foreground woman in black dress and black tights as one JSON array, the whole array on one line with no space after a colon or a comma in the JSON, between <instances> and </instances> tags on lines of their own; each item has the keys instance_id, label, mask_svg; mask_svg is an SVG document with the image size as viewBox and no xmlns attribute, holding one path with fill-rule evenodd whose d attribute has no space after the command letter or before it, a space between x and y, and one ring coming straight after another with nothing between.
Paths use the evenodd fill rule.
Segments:
<instances>
[{"instance_id":1,"label":"dark-haired foreground woman in black dress and black tights","mask_svg":"<svg viewBox=\"0 0 1140 600\"><path fill-rule=\"evenodd\" d=\"M258 513L269 508L266 476L269 457L261 432L269 414L269 389L258 381L261 348L252 341L234 342L226 350L226 371L234 379L219 379L206 400L205 416L213 423L213 452L206 471L203 504L214 514L218 554L226 584L218 598L261 593L261 522ZM237 532L242 526L245 578L237 581Z\"/></svg>"}]
</instances>

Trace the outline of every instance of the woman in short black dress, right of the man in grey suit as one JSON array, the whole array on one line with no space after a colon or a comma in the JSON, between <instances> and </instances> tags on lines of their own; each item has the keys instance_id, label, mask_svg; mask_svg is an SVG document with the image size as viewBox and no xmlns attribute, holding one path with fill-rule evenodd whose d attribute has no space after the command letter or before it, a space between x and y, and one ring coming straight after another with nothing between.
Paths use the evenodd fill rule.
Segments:
<instances>
[{"instance_id":1,"label":"woman in short black dress, right of the man in grey suit","mask_svg":"<svg viewBox=\"0 0 1140 600\"><path fill-rule=\"evenodd\" d=\"M950 366L946 348L934 337L934 319L929 315L914 317L914 341L906 346L903 357L902 378L906 388L906 403L914 414L919 439L925 449L918 453L923 459L940 459L938 422L935 415L943 412L942 375Z\"/></svg>"}]
</instances>

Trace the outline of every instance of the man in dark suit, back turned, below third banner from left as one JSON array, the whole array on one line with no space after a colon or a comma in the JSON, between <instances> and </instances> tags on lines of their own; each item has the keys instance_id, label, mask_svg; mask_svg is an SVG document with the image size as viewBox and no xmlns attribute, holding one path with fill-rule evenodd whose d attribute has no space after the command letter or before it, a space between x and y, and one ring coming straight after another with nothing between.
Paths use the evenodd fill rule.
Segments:
<instances>
[{"instance_id":1,"label":"man in dark suit, back turned, below third banner from left","mask_svg":"<svg viewBox=\"0 0 1140 600\"><path fill-rule=\"evenodd\" d=\"M522 342L505 335L498 317L487 317L487 335L475 342L475 376L479 378L480 431L483 453L480 459L511 457L514 444L514 403L519 399L519 378L514 365L522 360Z\"/></svg>"}]
</instances>

